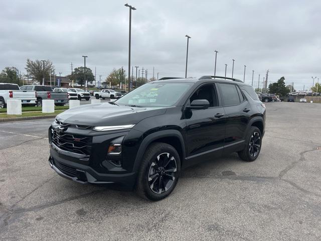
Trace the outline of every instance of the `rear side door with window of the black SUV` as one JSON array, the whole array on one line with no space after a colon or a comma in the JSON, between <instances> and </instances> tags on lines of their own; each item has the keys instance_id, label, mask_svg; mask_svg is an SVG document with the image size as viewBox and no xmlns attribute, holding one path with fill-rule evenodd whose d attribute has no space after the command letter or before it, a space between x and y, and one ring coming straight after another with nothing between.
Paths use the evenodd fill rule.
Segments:
<instances>
[{"instance_id":1,"label":"rear side door with window of the black SUV","mask_svg":"<svg viewBox=\"0 0 321 241\"><path fill-rule=\"evenodd\" d=\"M233 83L218 83L227 117L224 152L242 150L251 107L240 88Z\"/></svg>"}]
</instances>

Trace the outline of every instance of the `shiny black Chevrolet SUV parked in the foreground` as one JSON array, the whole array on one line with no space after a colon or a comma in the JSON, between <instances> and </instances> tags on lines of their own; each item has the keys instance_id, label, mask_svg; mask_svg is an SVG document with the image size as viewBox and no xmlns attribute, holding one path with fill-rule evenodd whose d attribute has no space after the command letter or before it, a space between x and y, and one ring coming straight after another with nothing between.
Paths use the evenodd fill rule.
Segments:
<instances>
[{"instance_id":1,"label":"shiny black Chevrolet SUV parked in the foreground","mask_svg":"<svg viewBox=\"0 0 321 241\"><path fill-rule=\"evenodd\" d=\"M183 168L232 152L254 161L264 126L265 105L240 80L158 80L59 114L49 128L49 163L74 181L123 184L159 200Z\"/></svg>"}]
</instances>

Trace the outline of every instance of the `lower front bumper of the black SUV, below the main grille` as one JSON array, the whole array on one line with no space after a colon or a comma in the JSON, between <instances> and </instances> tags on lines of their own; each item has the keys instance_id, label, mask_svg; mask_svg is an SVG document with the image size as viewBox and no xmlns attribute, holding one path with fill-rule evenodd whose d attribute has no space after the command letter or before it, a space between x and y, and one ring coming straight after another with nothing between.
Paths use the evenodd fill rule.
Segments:
<instances>
[{"instance_id":1,"label":"lower front bumper of the black SUV, below the main grille","mask_svg":"<svg viewBox=\"0 0 321 241\"><path fill-rule=\"evenodd\" d=\"M88 165L66 160L64 154L56 148L54 149L53 146L50 147L49 164L60 176L82 184L118 183L132 188L136 180L136 173L98 173Z\"/></svg>"}]
</instances>

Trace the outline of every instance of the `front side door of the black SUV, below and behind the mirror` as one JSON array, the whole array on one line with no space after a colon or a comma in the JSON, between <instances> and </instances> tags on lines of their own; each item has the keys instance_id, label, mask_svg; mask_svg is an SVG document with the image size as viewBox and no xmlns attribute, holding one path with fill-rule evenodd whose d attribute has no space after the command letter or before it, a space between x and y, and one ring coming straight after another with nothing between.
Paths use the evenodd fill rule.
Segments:
<instances>
[{"instance_id":1,"label":"front side door of the black SUV, below and behind the mirror","mask_svg":"<svg viewBox=\"0 0 321 241\"><path fill-rule=\"evenodd\" d=\"M185 111L187 166L219 156L224 146L226 118L214 83L199 86L187 105L195 99L207 99L210 107Z\"/></svg>"}]
</instances>

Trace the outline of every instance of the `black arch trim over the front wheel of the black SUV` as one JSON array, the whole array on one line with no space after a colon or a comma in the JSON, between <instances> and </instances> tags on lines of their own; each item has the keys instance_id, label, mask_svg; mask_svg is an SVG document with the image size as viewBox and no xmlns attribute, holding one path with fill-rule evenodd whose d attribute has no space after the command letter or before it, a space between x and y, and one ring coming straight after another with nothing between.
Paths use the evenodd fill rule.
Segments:
<instances>
[{"instance_id":1,"label":"black arch trim over the front wheel of the black SUV","mask_svg":"<svg viewBox=\"0 0 321 241\"><path fill-rule=\"evenodd\" d=\"M138 149L136 158L135 158L135 163L133 167L133 171L136 172L140 166L141 160L143 158L143 155L145 153L145 150L148 148L148 146L152 143L155 142L162 142L162 143L167 143L171 146L173 146L181 159L181 166L184 162L185 159L185 145L184 145L184 138L182 134L177 131L177 130L165 130L165 131L159 131L152 133L148 136L146 136Z\"/></svg>"}]
</instances>

